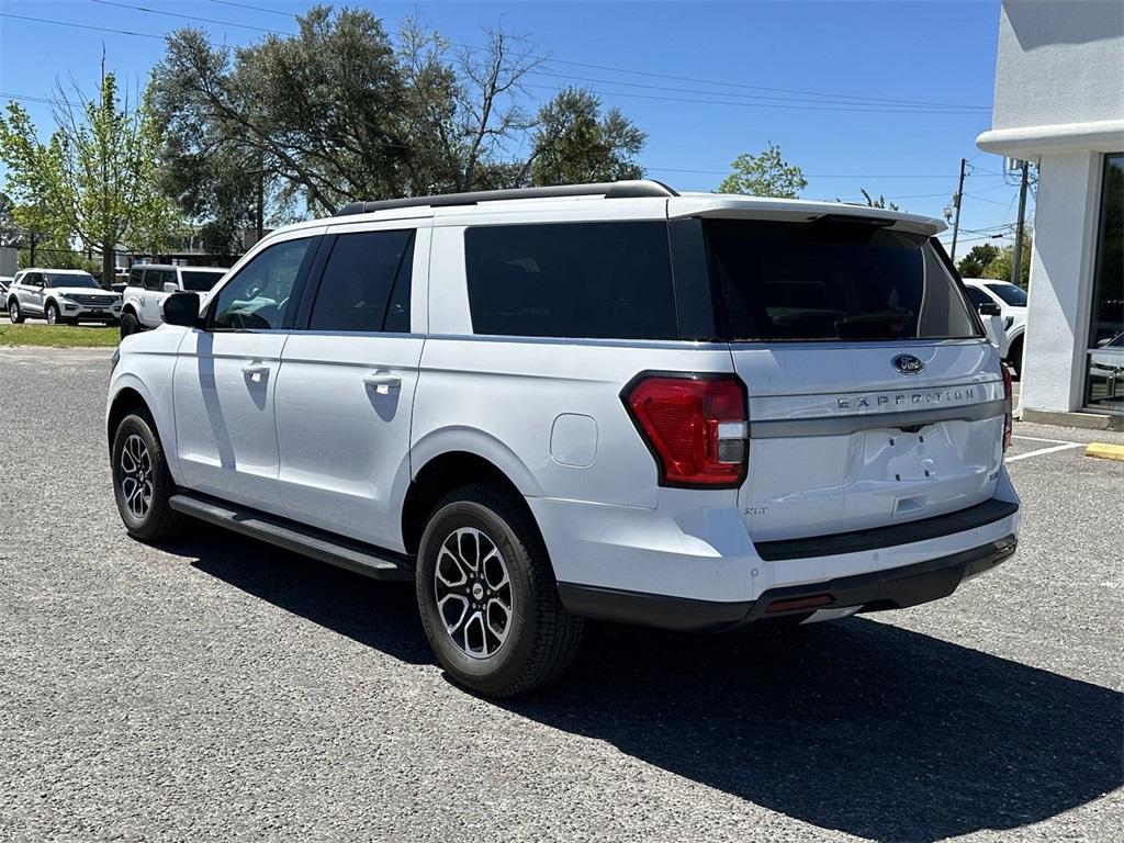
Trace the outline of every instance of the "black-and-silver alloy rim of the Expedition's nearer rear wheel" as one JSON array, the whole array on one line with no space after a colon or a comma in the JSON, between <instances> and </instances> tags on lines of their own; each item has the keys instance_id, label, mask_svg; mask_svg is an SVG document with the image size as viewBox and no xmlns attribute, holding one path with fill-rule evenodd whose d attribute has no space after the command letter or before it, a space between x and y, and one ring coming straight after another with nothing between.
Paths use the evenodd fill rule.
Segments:
<instances>
[{"instance_id":1,"label":"black-and-silver alloy rim of the Expedition's nearer rear wheel","mask_svg":"<svg viewBox=\"0 0 1124 843\"><path fill-rule=\"evenodd\" d=\"M445 632L465 655L488 659L507 641L515 595L507 561L486 533L455 529L441 544L434 597Z\"/></svg>"}]
</instances>

